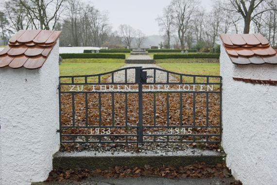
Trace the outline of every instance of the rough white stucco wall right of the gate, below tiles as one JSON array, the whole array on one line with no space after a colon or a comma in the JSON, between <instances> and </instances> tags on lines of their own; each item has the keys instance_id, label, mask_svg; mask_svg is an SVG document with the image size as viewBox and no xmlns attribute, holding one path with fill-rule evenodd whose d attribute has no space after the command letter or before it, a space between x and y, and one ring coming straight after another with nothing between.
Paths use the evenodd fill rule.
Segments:
<instances>
[{"instance_id":1,"label":"rough white stucco wall right of the gate, below tiles","mask_svg":"<svg viewBox=\"0 0 277 185\"><path fill-rule=\"evenodd\" d=\"M277 79L276 65L235 65L221 46L226 164L243 185L277 185L277 86L233 76Z\"/></svg>"}]
</instances>

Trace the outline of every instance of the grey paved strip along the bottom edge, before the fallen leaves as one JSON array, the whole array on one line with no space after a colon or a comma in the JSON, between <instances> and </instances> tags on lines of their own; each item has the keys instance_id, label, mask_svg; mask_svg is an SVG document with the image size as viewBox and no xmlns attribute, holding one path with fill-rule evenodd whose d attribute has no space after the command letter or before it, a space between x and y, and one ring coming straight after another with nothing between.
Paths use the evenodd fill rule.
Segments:
<instances>
[{"instance_id":1,"label":"grey paved strip along the bottom edge, before the fallen leaves","mask_svg":"<svg viewBox=\"0 0 277 185\"><path fill-rule=\"evenodd\" d=\"M224 179L169 179L160 177L139 177L123 179L104 179L95 177L82 182L52 182L33 183L32 185L230 185L235 180L233 178Z\"/></svg>"}]
</instances>

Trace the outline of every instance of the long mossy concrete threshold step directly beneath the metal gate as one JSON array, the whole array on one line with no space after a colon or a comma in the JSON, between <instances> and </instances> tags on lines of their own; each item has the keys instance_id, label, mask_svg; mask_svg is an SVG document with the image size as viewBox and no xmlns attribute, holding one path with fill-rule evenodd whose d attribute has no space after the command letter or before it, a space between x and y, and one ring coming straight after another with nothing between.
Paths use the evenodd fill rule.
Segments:
<instances>
[{"instance_id":1,"label":"long mossy concrete threshold step directly beneath the metal gate","mask_svg":"<svg viewBox=\"0 0 277 185\"><path fill-rule=\"evenodd\" d=\"M161 166L188 166L204 162L216 165L225 162L225 153L202 149L186 149L178 152L57 152L53 158L53 167L107 169L115 166L143 167L150 165Z\"/></svg>"}]
</instances>

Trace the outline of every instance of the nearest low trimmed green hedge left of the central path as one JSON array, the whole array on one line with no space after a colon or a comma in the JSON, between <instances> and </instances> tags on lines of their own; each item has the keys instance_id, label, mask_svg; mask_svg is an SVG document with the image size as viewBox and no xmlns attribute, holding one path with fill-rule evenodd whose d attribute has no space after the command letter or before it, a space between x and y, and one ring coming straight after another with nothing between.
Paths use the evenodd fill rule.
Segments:
<instances>
[{"instance_id":1,"label":"nearest low trimmed green hedge left of the central path","mask_svg":"<svg viewBox=\"0 0 277 185\"><path fill-rule=\"evenodd\" d=\"M120 58L125 59L125 54L60 54L63 59L66 58Z\"/></svg>"}]
</instances>

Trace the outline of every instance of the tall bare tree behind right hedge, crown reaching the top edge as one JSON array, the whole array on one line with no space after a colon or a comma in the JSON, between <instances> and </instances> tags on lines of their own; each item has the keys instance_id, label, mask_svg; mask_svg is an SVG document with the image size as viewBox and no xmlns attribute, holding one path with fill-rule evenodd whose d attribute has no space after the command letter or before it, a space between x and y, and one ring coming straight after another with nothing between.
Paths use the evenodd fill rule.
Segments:
<instances>
[{"instance_id":1,"label":"tall bare tree behind right hedge, crown reaching the top edge","mask_svg":"<svg viewBox=\"0 0 277 185\"><path fill-rule=\"evenodd\" d=\"M193 12L196 8L197 0L173 0L172 6L175 11L175 26L178 31L178 37L181 49L185 48L185 36L189 28Z\"/></svg>"}]
</instances>

